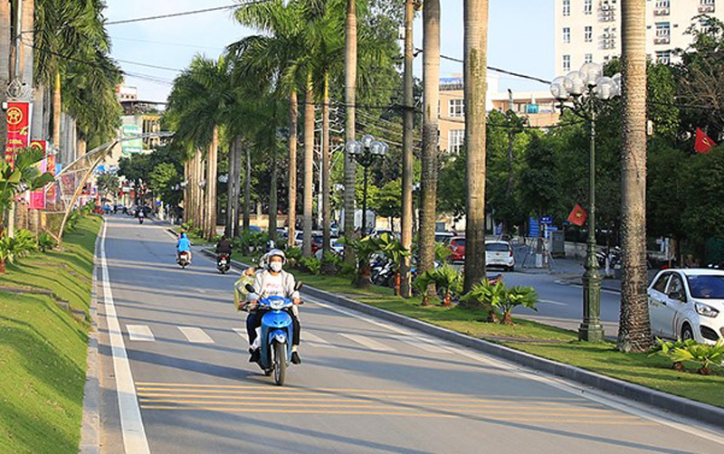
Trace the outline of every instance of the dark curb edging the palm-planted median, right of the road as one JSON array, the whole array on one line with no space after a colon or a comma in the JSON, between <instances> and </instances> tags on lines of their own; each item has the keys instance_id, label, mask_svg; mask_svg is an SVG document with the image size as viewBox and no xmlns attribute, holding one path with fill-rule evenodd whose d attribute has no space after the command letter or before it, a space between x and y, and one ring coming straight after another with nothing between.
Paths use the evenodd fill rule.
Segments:
<instances>
[{"instance_id":1,"label":"dark curb edging the palm-planted median, right of the road","mask_svg":"<svg viewBox=\"0 0 724 454\"><path fill-rule=\"evenodd\" d=\"M208 257L215 256L213 252L205 249L202 250L202 253ZM241 270L248 268L248 265L244 263L236 260L231 261L233 266L236 268ZM307 293L313 298L318 298L338 306L348 307L356 310L357 312L382 318L401 326L413 328L417 331L423 332L424 334L435 336L458 345L463 345L489 355L495 355L546 374L557 375L576 383L585 384L595 389L605 391L606 393L612 393L636 402L643 402L654 407L661 408L662 410L671 411L677 415L705 422L712 426L724 429L724 409L720 409L707 403L691 401L673 394L662 393L661 391L646 388L640 384L624 382L623 380L596 374L573 365L562 364L536 355L530 355L508 346L493 344L488 341L457 333L450 329L434 326L414 318L395 314L394 312L389 312L379 307L368 306L366 304L359 303L354 299L333 295L324 290L320 290L319 288L304 286L301 291L302 293Z\"/></svg>"}]
</instances>

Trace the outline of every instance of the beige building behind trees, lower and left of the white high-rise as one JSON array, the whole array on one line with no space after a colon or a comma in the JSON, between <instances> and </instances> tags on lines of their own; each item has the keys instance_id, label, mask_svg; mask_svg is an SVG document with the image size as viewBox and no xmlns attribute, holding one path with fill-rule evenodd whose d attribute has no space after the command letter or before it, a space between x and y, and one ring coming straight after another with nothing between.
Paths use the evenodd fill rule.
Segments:
<instances>
[{"instance_id":1,"label":"beige building behind trees, lower and left of the white high-rise","mask_svg":"<svg viewBox=\"0 0 724 454\"><path fill-rule=\"evenodd\" d=\"M511 97L512 96L512 104ZM488 74L486 108L507 111L528 118L530 126L555 125L560 113L555 109L556 99L549 91L498 91L498 77ZM440 149L457 153L465 143L465 107L461 77L440 80Z\"/></svg>"}]
</instances>

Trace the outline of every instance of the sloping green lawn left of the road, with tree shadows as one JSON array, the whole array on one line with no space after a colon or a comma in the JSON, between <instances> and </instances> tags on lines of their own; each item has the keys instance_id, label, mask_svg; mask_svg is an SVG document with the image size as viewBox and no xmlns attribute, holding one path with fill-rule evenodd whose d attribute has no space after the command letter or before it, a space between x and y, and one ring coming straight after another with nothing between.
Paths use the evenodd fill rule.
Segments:
<instances>
[{"instance_id":1,"label":"sloping green lawn left of the road, with tree shadows","mask_svg":"<svg viewBox=\"0 0 724 454\"><path fill-rule=\"evenodd\" d=\"M0 452L78 452L89 325L77 316L90 305L100 224L82 219L62 251L35 253L0 276Z\"/></svg>"}]
</instances>

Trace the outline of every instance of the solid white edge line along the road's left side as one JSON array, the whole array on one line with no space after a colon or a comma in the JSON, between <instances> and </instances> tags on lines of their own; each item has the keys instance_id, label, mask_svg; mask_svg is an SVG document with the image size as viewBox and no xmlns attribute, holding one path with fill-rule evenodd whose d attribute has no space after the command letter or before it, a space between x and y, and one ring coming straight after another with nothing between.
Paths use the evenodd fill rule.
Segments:
<instances>
[{"instance_id":1,"label":"solid white edge line along the road's left side","mask_svg":"<svg viewBox=\"0 0 724 454\"><path fill-rule=\"evenodd\" d=\"M100 237L100 271L103 279L103 303L106 309L110 352L113 356L113 370L116 375L116 394L119 398L120 430L123 436L123 447L127 454L150 454L146 430L143 427L141 411L138 407L136 387L130 370L129 356L123 343L113 293L110 289L110 276L106 260L106 231L108 224L103 223Z\"/></svg>"}]
</instances>

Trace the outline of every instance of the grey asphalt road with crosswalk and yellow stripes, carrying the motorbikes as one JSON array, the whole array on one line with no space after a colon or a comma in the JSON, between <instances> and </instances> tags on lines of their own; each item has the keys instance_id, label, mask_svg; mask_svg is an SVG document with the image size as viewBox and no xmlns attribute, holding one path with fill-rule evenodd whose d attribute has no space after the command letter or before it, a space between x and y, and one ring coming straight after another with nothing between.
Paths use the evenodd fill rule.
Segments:
<instances>
[{"instance_id":1,"label":"grey asphalt road with crosswalk and yellow stripes, carrying the motorbikes","mask_svg":"<svg viewBox=\"0 0 724 454\"><path fill-rule=\"evenodd\" d=\"M247 362L233 275L174 264L160 224L100 247L103 453L721 453L699 424L367 318L302 307L284 387ZM125 447L125 449L124 449Z\"/></svg>"}]
</instances>

